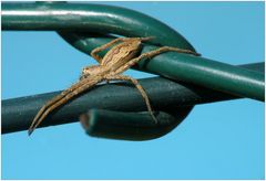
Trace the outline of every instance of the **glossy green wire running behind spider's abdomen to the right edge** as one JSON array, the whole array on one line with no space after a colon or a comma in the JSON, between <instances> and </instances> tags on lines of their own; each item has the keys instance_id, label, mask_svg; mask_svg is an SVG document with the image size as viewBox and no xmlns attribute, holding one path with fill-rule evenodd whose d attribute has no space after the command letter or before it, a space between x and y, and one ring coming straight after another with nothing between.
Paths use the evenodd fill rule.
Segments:
<instances>
[{"instance_id":1,"label":"glossy green wire running behind spider's abdomen to the right edge","mask_svg":"<svg viewBox=\"0 0 266 181\"><path fill-rule=\"evenodd\" d=\"M113 36L89 33L64 33L60 35L78 50L90 52L113 40ZM142 53L157 49L145 45ZM104 56L105 52L101 53ZM178 79L232 95L265 100L264 74L248 71L213 60L178 53L164 53L149 61L141 61L133 68L160 74L171 79Z\"/></svg>"}]
</instances>

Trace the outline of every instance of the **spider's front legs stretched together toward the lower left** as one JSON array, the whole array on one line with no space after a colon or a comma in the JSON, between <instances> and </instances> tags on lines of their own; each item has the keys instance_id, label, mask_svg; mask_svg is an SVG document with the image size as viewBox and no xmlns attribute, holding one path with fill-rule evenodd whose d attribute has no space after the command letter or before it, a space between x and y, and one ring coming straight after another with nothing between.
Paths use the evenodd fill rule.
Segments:
<instances>
[{"instance_id":1,"label":"spider's front legs stretched together toward the lower left","mask_svg":"<svg viewBox=\"0 0 266 181\"><path fill-rule=\"evenodd\" d=\"M74 96L81 94L82 92L86 91L88 88L92 87L93 85L98 84L101 81L102 78L100 76L95 78L85 78L68 88L64 92L65 94L57 96L51 102L49 102L49 104L44 105L33 119L31 127L29 128L29 135L31 135L34 131L34 129L41 124L41 121L48 116L48 114L50 114L59 106L65 104Z\"/></svg>"}]
</instances>

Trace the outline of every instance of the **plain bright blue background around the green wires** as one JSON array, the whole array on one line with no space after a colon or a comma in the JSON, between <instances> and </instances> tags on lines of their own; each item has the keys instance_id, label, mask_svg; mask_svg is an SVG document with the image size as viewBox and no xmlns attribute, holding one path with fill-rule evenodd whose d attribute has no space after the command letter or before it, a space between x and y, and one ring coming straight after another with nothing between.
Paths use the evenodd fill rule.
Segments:
<instances>
[{"instance_id":1,"label":"plain bright blue background around the green wires","mask_svg":"<svg viewBox=\"0 0 266 181\"><path fill-rule=\"evenodd\" d=\"M204 57L264 61L264 2L101 2L165 22ZM2 99L60 91L95 64L55 32L2 32ZM136 78L151 76L135 71ZM2 136L2 179L263 179L264 104L196 106L168 135L142 142L92 138L79 124Z\"/></svg>"}]
</instances>

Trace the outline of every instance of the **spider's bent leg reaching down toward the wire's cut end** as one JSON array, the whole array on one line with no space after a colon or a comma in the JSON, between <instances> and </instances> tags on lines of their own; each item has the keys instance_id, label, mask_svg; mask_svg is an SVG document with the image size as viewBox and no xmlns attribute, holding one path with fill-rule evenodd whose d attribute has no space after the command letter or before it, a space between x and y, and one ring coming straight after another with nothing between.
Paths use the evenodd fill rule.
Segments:
<instances>
[{"instance_id":1,"label":"spider's bent leg reaching down toward the wire's cut end","mask_svg":"<svg viewBox=\"0 0 266 181\"><path fill-rule=\"evenodd\" d=\"M143 89L143 87L140 85L140 83L136 79L134 79L130 76L125 76L125 75L113 75L113 76L111 75L111 76L106 76L105 79L108 79L108 81L117 79L117 81L129 81L129 82L131 82L141 93L143 99L145 100L147 110L150 111L150 114L151 114L152 118L155 120L155 123L157 123L157 119L153 114L150 99L149 99L145 91Z\"/></svg>"}]
</instances>

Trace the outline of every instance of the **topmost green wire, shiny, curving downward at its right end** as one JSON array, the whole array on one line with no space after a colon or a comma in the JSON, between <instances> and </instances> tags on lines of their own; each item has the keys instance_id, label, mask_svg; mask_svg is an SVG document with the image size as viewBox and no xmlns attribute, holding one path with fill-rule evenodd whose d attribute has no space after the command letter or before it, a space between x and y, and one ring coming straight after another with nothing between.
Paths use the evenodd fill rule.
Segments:
<instances>
[{"instance_id":1,"label":"topmost green wire, shiny, curving downward at its right end","mask_svg":"<svg viewBox=\"0 0 266 181\"><path fill-rule=\"evenodd\" d=\"M2 3L2 30L53 30L155 36L152 42L195 51L175 30L146 14L90 3ZM162 33L163 32L163 33Z\"/></svg>"}]
</instances>

